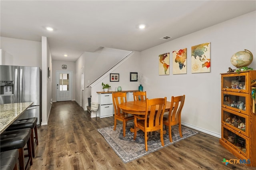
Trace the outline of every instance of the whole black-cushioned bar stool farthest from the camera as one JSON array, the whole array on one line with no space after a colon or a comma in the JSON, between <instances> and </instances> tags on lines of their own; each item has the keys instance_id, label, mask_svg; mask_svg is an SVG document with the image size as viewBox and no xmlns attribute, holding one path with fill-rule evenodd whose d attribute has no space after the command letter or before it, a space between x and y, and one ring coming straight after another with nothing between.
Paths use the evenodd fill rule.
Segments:
<instances>
[{"instance_id":1,"label":"whole black-cushioned bar stool farthest from the camera","mask_svg":"<svg viewBox=\"0 0 256 170\"><path fill-rule=\"evenodd\" d=\"M31 145L32 145L32 155L35 157L35 148L34 148L34 138L36 139L36 145L38 145L38 136L37 136L37 117L18 119L12 123L5 131L18 130L23 128L31 128Z\"/></svg>"}]
</instances>

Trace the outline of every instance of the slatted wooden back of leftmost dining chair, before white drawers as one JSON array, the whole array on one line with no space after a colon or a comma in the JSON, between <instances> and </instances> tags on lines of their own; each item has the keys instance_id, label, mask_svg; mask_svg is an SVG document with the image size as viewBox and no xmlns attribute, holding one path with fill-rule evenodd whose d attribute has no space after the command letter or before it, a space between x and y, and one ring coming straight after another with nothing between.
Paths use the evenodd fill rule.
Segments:
<instances>
[{"instance_id":1,"label":"slatted wooden back of leftmost dining chair, before white drawers","mask_svg":"<svg viewBox=\"0 0 256 170\"><path fill-rule=\"evenodd\" d=\"M113 106L114 106L114 111L115 115L121 115L121 110L119 108L120 103L127 102L126 99L126 93L125 92L116 92L112 94L112 99L113 99Z\"/></svg>"}]
</instances>

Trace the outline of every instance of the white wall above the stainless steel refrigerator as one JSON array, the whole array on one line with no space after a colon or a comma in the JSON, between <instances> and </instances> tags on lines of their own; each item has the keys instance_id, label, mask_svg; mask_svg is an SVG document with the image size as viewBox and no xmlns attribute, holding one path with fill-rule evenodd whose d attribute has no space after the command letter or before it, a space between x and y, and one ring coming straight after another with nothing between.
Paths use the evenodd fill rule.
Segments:
<instances>
[{"instance_id":1,"label":"white wall above the stainless steel refrigerator","mask_svg":"<svg viewBox=\"0 0 256 170\"><path fill-rule=\"evenodd\" d=\"M42 43L0 37L0 49L6 51L5 65L42 68Z\"/></svg>"}]
</instances>

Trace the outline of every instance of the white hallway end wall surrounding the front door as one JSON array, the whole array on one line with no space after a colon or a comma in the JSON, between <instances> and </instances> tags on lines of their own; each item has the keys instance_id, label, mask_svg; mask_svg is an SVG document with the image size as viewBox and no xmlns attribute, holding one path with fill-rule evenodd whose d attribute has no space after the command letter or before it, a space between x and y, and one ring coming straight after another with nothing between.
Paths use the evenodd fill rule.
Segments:
<instances>
[{"instance_id":1,"label":"white hallway end wall surrounding the front door","mask_svg":"<svg viewBox=\"0 0 256 170\"><path fill-rule=\"evenodd\" d=\"M67 65L67 69L62 69L62 65ZM52 101L56 102L56 71L72 71L73 84L72 84L72 100L76 99L76 65L75 62L69 61L52 61Z\"/></svg>"}]
</instances>

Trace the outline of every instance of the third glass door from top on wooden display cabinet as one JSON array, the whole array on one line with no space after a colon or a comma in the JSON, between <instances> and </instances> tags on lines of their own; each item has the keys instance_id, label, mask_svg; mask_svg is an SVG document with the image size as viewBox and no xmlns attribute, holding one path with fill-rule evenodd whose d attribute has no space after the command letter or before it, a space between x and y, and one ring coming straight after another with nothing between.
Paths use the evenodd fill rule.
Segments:
<instances>
[{"instance_id":1,"label":"third glass door from top on wooden display cabinet","mask_svg":"<svg viewBox=\"0 0 256 170\"><path fill-rule=\"evenodd\" d=\"M244 115L222 107L221 117L222 124L233 128L238 133L244 134L245 136L249 137L250 126L245 126L249 125L248 115Z\"/></svg>"}]
</instances>

